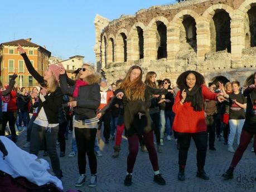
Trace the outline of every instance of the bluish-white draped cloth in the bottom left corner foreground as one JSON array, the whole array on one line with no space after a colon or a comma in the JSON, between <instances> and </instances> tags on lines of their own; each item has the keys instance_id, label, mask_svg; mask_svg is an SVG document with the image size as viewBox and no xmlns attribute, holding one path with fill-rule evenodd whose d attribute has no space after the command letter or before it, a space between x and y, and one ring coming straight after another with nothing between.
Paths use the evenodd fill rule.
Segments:
<instances>
[{"instance_id":1,"label":"bluish-white draped cloth in the bottom left corner foreground","mask_svg":"<svg viewBox=\"0 0 256 192\"><path fill-rule=\"evenodd\" d=\"M4 160L0 151L1 171L11 175L13 178L23 176L38 186L53 183L58 188L63 189L61 180L48 173L47 169L50 169L50 166L46 160L37 159L36 155L23 151L5 136L0 136L0 139L8 151L8 155Z\"/></svg>"}]
</instances>

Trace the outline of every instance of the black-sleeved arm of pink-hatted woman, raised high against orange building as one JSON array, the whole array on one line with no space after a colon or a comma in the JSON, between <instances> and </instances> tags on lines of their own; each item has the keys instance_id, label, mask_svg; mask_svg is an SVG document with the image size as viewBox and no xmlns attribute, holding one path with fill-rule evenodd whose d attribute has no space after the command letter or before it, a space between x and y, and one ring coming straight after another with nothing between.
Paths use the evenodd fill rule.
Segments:
<instances>
[{"instance_id":1,"label":"black-sleeved arm of pink-hatted woman, raised high against orange building","mask_svg":"<svg viewBox=\"0 0 256 192\"><path fill-rule=\"evenodd\" d=\"M41 86L45 86L45 80L44 77L42 77L33 67L32 63L27 57L27 54L25 50L21 47L21 45L18 45L18 51L20 51L21 56L23 57L23 60L25 61L26 67L28 72L35 78L35 80L40 83Z\"/></svg>"}]
</instances>

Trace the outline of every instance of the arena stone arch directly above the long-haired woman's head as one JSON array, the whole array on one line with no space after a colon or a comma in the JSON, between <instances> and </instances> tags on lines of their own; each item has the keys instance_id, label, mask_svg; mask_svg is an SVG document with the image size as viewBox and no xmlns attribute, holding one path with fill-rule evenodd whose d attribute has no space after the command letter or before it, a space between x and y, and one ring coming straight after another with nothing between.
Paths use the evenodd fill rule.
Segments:
<instances>
[{"instance_id":1,"label":"arena stone arch directly above the long-haired woman's head","mask_svg":"<svg viewBox=\"0 0 256 192\"><path fill-rule=\"evenodd\" d=\"M129 33L128 39L128 58L131 61L136 61L144 58L144 29L143 23L135 23Z\"/></svg>"}]
</instances>

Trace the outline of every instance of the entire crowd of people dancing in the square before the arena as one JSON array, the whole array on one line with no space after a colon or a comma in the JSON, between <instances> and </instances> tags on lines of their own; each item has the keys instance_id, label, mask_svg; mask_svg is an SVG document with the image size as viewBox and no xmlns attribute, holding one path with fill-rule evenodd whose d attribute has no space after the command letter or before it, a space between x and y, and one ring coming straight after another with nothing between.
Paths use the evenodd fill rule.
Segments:
<instances>
[{"instance_id":1,"label":"entire crowd of people dancing in the square before the arena","mask_svg":"<svg viewBox=\"0 0 256 192\"><path fill-rule=\"evenodd\" d=\"M204 76L196 71L185 71L171 82L168 78L156 80L156 72L146 74L139 66L129 68L122 80L108 86L107 80L96 73L93 66L84 64L71 80L65 68L49 65L41 76L33 68L26 52L18 47L26 67L39 86L28 92L25 87L15 90L16 74L8 86L2 87L0 134L6 133L8 122L11 140L17 141L18 131L26 130L30 154L44 150L49 155L52 170L62 176L59 157L65 156L66 135L73 134L72 151L77 155L79 176L76 187L85 184L86 155L90 168L89 187L97 185L97 159L102 156L99 142L114 141L113 158L119 157L122 135L128 140L127 174L124 185L132 185L133 167L139 146L148 152L153 169L153 180L159 185L166 181L160 173L157 152L165 152L162 145L176 141L179 171L177 179L185 180L185 167L191 143L197 153L198 178L208 180L204 166L206 152L216 151L215 140L223 140L226 150L234 152L224 179L232 179L235 166L254 136L256 151L256 72L248 77L245 86L240 82L205 83ZM104 125L104 126L103 126ZM101 130L103 137L101 138ZM235 135L238 148L234 149ZM157 148L154 146L154 136ZM56 150L60 144L60 155ZM100 173L99 173L100 174Z\"/></svg>"}]
</instances>

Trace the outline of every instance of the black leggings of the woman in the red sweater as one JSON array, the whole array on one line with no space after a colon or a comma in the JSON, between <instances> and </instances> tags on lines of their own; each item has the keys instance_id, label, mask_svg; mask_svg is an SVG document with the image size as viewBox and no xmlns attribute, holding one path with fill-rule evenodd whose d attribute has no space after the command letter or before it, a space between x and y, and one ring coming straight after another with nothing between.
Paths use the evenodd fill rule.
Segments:
<instances>
[{"instance_id":1,"label":"black leggings of the woman in the red sweater","mask_svg":"<svg viewBox=\"0 0 256 192\"><path fill-rule=\"evenodd\" d=\"M180 150L178 151L178 164L186 165L187 161L187 151L189 151L191 137L196 144L196 160L197 168L199 170L204 169L206 151L207 151L207 133L206 132L197 132L194 134L177 132L178 143L180 144Z\"/></svg>"}]
</instances>

